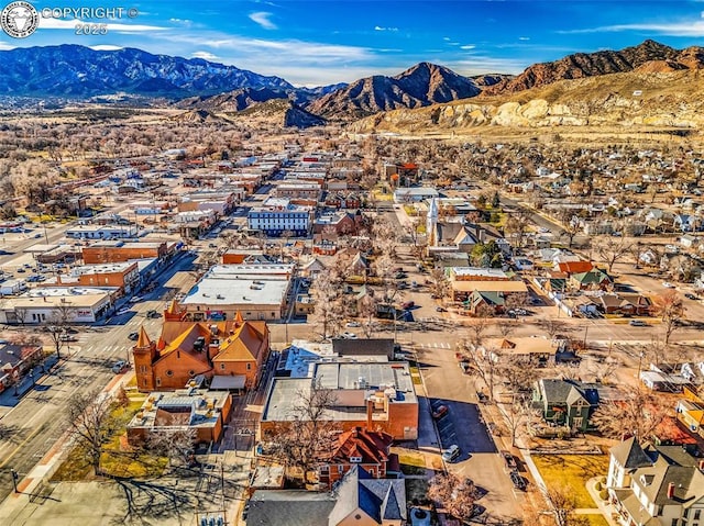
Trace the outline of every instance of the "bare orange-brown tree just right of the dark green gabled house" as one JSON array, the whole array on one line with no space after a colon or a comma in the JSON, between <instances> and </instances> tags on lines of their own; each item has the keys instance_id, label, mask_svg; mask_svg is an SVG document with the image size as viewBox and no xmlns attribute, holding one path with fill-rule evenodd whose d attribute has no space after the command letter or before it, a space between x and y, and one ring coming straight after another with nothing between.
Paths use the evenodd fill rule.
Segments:
<instances>
[{"instance_id":1,"label":"bare orange-brown tree just right of the dark green gabled house","mask_svg":"<svg viewBox=\"0 0 704 526\"><path fill-rule=\"evenodd\" d=\"M592 423L609 438L628 435L636 436L638 440L649 440L670 411L662 396L639 384L626 388L623 400L600 403L592 415Z\"/></svg>"}]
</instances>

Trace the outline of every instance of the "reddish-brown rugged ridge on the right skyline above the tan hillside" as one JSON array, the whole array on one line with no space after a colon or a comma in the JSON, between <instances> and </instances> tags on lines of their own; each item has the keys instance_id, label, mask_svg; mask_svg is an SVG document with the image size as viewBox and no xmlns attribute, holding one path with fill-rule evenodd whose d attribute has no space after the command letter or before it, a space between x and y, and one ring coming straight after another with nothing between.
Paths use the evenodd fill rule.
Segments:
<instances>
[{"instance_id":1,"label":"reddish-brown rugged ridge on the right skyline above the tan hillside","mask_svg":"<svg viewBox=\"0 0 704 526\"><path fill-rule=\"evenodd\" d=\"M620 51L576 53L552 63L536 64L513 79L504 79L484 90L486 94L514 93L547 86L558 80L579 79L600 75L648 68L659 72L704 67L704 48L678 51L648 40Z\"/></svg>"}]
</instances>

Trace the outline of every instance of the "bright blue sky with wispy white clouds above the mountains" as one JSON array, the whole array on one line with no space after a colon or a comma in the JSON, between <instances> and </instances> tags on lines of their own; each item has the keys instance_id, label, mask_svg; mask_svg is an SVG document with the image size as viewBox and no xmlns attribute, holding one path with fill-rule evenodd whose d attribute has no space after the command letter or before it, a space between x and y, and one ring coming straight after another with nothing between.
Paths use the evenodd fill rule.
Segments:
<instances>
[{"instance_id":1,"label":"bright blue sky with wispy white clouds above the mountains","mask_svg":"<svg viewBox=\"0 0 704 526\"><path fill-rule=\"evenodd\" d=\"M0 0L0 8L9 0ZM31 36L0 32L0 49L82 44L202 57L295 85L396 75L422 60L462 75L520 72L576 52L653 38L704 46L704 0L690 1L32 1L43 8L129 8L106 35L76 35L68 18L42 18ZM1 65L0 65L1 66Z\"/></svg>"}]
</instances>

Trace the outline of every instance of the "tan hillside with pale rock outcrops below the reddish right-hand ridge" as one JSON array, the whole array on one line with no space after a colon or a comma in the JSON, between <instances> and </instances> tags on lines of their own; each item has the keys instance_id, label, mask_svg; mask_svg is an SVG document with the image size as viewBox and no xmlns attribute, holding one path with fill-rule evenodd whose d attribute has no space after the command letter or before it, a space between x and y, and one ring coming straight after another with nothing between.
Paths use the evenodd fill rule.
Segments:
<instances>
[{"instance_id":1,"label":"tan hillside with pale rock outcrops below the reddish right-hand ridge","mask_svg":"<svg viewBox=\"0 0 704 526\"><path fill-rule=\"evenodd\" d=\"M396 110L358 121L351 131L422 133L487 126L638 126L704 130L704 71L631 71L576 80L505 96L418 110Z\"/></svg>"}]
</instances>

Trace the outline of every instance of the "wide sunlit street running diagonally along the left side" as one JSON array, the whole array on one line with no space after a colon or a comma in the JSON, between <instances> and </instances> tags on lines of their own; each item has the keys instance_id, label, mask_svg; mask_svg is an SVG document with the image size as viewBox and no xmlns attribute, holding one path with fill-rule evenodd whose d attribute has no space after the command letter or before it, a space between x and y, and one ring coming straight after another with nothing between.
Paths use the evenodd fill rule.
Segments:
<instances>
[{"instance_id":1,"label":"wide sunlit street running diagonally along the left side","mask_svg":"<svg viewBox=\"0 0 704 526\"><path fill-rule=\"evenodd\" d=\"M157 278L158 282L168 281L172 286L174 280L186 279L183 275L187 272L183 271L191 264L193 257L184 255ZM180 272L180 277L172 278L176 272ZM67 429L64 415L74 393L101 390L114 378L112 363L129 357L132 343L128 335L141 325L152 336L160 333L162 318L147 318L145 313L150 310L162 312L162 296L167 292L167 288L158 287L144 294L144 301L132 305L129 313L113 316L103 326L81 328L78 340L62 349L65 359L40 379L16 405L4 412L2 425L9 430L9 437L0 441L0 501L12 491L10 469L20 473L20 478L28 475ZM11 393L4 393L2 400L8 400L8 395ZM7 409L6 405L0 411Z\"/></svg>"}]
</instances>

